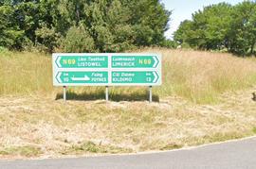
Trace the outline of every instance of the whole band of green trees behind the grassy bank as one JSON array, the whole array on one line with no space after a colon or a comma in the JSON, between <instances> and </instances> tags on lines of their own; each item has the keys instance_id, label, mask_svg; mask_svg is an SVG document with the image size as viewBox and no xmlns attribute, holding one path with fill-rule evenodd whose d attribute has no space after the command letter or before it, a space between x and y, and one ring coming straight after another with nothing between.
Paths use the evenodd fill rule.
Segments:
<instances>
[{"instance_id":1,"label":"whole band of green trees behind the grassy bank","mask_svg":"<svg viewBox=\"0 0 256 169\"><path fill-rule=\"evenodd\" d=\"M160 0L4 0L0 47L19 51L123 52L145 46L255 56L256 2L219 3L192 13L166 39L172 13Z\"/></svg>"}]
</instances>

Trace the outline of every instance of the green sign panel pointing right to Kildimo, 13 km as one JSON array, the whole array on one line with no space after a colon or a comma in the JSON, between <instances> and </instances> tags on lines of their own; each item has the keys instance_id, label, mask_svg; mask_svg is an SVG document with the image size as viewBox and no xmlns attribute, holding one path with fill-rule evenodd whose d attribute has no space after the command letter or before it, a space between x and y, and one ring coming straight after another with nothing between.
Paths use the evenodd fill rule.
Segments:
<instances>
[{"instance_id":1,"label":"green sign panel pointing right to Kildimo, 13 km","mask_svg":"<svg viewBox=\"0 0 256 169\"><path fill-rule=\"evenodd\" d=\"M143 72L133 72L133 71L119 71L112 72L112 83L156 83L159 79L158 74L155 71L143 71Z\"/></svg>"}]
</instances>

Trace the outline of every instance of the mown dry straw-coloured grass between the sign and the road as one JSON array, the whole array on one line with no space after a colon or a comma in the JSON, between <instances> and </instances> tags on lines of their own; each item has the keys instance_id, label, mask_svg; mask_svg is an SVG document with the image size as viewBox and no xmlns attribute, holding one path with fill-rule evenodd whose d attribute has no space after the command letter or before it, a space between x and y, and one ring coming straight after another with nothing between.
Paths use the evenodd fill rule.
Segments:
<instances>
[{"instance_id":1,"label":"mown dry straw-coloured grass between the sign and the road","mask_svg":"<svg viewBox=\"0 0 256 169\"><path fill-rule=\"evenodd\" d=\"M255 134L256 105L247 92L225 93L222 104L194 105L178 97L159 103L0 98L0 152L35 147L40 157L167 150ZM18 151L23 152L23 151ZM0 158L27 155L0 153Z\"/></svg>"}]
</instances>

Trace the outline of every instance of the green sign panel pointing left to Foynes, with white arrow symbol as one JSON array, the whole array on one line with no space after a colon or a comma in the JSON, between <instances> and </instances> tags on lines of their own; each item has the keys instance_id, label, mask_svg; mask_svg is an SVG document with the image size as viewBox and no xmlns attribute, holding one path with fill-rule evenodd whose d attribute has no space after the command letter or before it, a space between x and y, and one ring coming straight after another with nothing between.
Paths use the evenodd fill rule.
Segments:
<instances>
[{"instance_id":1,"label":"green sign panel pointing left to Foynes, with white arrow symbol","mask_svg":"<svg viewBox=\"0 0 256 169\"><path fill-rule=\"evenodd\" d=\"M108 83L108 72L58 72L56 79L62 84Z\"/></svg>"}]
</instances>

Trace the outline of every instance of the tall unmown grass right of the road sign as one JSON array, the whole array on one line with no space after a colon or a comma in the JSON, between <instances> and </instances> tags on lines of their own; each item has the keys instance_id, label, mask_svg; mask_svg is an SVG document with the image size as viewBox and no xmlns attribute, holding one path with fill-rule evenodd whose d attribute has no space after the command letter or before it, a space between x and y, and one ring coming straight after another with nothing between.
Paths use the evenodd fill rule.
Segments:
<instances>
[{"instance_id":1,"label":"tall unmown grass right of the road sign","mask_svg":"<svg viewBox=\"0 0 256 169\"><path fill-rule=\"evenodd\" d=\"M176 94L196 103L214 103L220 93L256 84L255 59L191 50L154 51L163 55L164 83L156 90L159 95Z\"/></svg>"}]
</instances>

